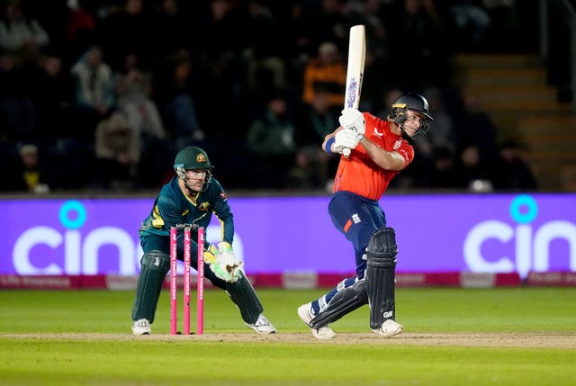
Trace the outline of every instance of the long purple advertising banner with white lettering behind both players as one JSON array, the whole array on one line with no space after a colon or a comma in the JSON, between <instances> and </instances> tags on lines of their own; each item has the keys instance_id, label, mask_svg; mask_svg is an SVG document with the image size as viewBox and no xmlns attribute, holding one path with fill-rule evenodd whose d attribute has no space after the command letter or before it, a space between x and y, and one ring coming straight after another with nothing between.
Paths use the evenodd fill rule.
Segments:
<instances>
[{"instance_id":1,"label":"long purple advertising banner with white lettering behind both players","mask_svg":"<svg viewBox=\"0 0 576 386\"><path fill-rule=\"evenodd\" d=\"M0 274L139 272L138 229L154 199L0 202ZM229 198L234 250L250 273L351 273L329 197ZM576 194L389 195L398 272L576 272ZM208 241L220 235L218 221Z\"/></svg>"}]
</instances>

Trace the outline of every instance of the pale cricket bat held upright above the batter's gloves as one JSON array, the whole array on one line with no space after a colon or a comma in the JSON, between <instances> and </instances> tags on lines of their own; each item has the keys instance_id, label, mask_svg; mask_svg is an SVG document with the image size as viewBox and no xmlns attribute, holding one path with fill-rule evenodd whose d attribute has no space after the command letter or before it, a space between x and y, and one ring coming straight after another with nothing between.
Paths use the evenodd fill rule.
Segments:
<instances>
[{"instance_id":1,"label":"pale cricket bat held upright above the batter's gloves","mask_svg":"<svg viewBox=\"0 0 576 386\"><path fill-rule=\"evenodd\" d=\"M364 80L364 63L366 57L365 26L354 25L350 28L350 40L348 42L348 65L346 74L346 94L344 96L344 108L357 109L360 104L360 92ZM350 156L350 149L345 148L344 157Z\"/></svg>"}]
</instances>

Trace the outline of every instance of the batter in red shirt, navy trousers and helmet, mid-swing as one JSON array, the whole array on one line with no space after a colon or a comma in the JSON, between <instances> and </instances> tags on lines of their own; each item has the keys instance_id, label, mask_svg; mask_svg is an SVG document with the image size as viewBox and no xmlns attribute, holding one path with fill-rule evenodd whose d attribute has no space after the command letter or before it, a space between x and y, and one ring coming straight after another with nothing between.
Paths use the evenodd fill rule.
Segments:
<instances>
[{"instance_id":1,"label":"batter in red shirt, navy trousers and helmet, mid-swing","mask_svg":"<svg viewBox=\"0 0 576 386\"><path fill-rule=\"evenodd\" d=\"M386 120L344 109L340 126L324 139L322 148L329 154L352 149L349 157L340 156L329 215L354 247L356 275L298 308L298 315L314 337L334 337L329 323L365 304L370 306L374 333L392 337L402 332L396 321L394 296L396 234L386 226L379 200L392 178L414 159L409 140L425 133L429 120L432 117L426 98L407 93L392 103Z\"/></svg>"}]
</instances>

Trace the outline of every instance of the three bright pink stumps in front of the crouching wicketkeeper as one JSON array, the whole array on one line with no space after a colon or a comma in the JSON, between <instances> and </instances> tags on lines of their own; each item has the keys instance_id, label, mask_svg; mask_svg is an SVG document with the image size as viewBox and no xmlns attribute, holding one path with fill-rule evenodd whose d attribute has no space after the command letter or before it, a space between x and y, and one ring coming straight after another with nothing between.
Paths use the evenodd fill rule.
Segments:
<instances>
[{"instance_id":1,"label":"three bright pink stumps in front of the crouching wicketkeeper","mask_svg":"<svg viewBox=\"0 0 576 386\"><path fill-rule=\"evenodd\" d=\"M198 281L196 288L196 334L204 333L204 229L196 224L179 224L170 228L170 334L177 334L177 245L178 229L184 230L184 335L190 335L190 263L192 229L198 232Z\"/></svg>"}]
</instances>

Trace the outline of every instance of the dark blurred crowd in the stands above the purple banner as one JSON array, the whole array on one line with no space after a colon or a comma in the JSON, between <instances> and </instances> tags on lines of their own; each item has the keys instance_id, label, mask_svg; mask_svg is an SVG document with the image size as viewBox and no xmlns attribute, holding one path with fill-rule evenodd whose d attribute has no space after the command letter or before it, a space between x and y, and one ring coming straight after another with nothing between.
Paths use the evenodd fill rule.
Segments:
<instances>
[{"instance_id":1,"label":"dark blurred crowd in the stands above the purple banner","mask_svg":"<svg viewBox=\"0 0 576 386\"><path fill-rule=\"evenodd\" d=\"M515 3L0 0L0 191L155 189L184 145L206 149L227 189L329 189L338 160L320 144L358 23L360 109L385 118L411 90L435 118L398 186L536 189L451 61L509 49Z\"/></svg>"}]
</instances>

